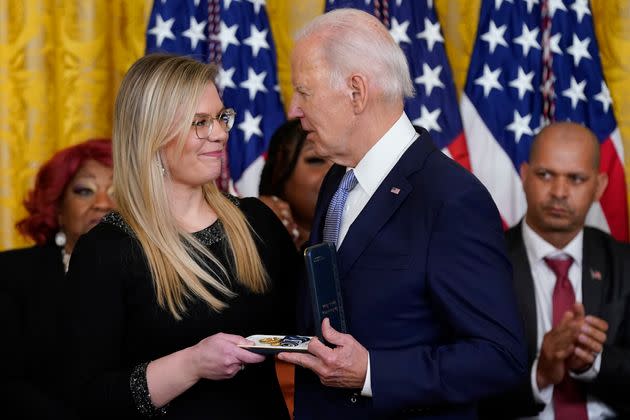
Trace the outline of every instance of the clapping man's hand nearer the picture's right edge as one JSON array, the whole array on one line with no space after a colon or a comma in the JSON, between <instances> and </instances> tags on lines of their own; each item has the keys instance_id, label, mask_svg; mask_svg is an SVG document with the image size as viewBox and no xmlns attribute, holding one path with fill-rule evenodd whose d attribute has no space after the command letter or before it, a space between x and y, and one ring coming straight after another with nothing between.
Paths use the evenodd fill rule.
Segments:
<instances>
[{"instance_id":1,"label":"clapping man's hand nearer the picture's right edge","mask_svg":"<svg viewBox=\"0 0 630 420\"><path fill-rule=\"evenodd\" d=\"M584 307L579 305L584 314ZM567 368L573 372L588 370L595 358L601 353L606 342L608 323L601 318L588 315L580 323L580 334L577 337L573 354L567 360Z\"/></svg>"}]
</instances>

